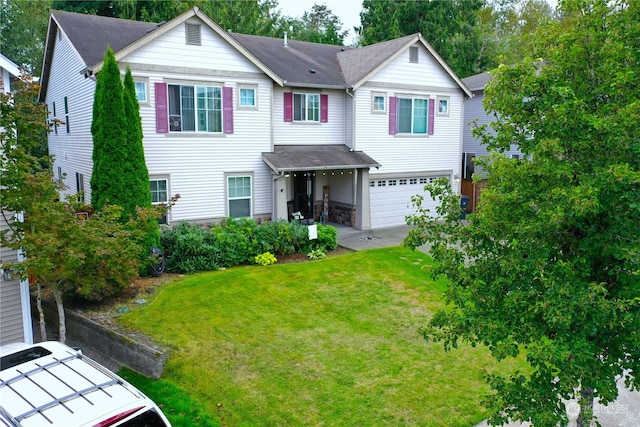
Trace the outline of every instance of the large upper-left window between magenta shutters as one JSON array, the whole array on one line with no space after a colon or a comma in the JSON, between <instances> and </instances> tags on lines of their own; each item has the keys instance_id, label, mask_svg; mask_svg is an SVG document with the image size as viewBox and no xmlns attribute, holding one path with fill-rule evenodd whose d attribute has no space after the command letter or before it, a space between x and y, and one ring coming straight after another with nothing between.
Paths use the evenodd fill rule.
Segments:
<instances>
[{"instance_id":1,"label":"large upper-left window between magenta shutters","mask_svg":"<svg viewBox=\"0 0 640 427\"><path fill-rule=\"evenodd\" d=\"M222 87L167 85L170 132L222 133Z\"/></svg>"}]
</instances>

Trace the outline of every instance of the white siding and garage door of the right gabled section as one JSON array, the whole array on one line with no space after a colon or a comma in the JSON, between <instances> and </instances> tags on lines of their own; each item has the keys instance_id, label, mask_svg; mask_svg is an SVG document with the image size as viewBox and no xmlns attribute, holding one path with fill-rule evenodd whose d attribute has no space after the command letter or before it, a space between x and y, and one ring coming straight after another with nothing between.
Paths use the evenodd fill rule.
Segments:
<instances>
[{"instance_id":1,"label":"white siding and garage door of the right gabled section","mask_svg":"<svg viewBox=\"0 0 640 427\"><path fill-rule=\"evenodd\" d=\"M373 94L386 96L386 111L372 111ZM449 114L434 114L433 135L389 134L389 97L420 97L449 99ZM428 51L420 48L419 62L409 62L409 50L380 70L365 85L356 90L355 149L364 151L378 163L379 169L370 171L369 187L371 226L373 228L401 225L405 216L415 212L411 196L424 194L420 178L447 176L459 191L462 150L463 92L446 74ZM418 179L410 184L410 179ZM389 180L395 182L390 186ZM400 185L400 179L407 184ZM378 182L384 181L384 186ZM427 197L426 205L433 207Z\"/></svg>"}]
</instances>

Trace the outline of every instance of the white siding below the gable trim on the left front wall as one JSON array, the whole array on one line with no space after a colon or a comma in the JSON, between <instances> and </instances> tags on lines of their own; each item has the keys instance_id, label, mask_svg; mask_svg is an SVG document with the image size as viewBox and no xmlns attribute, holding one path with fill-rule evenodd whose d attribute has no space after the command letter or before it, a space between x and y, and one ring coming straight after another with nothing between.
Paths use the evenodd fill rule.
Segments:
<instances>
[{"instance_id":1,"label":"white siding below the gable trim on the left front wall","mask_svg":"<svg viewBox=\"0 0 640 427\"><path fill-rule=\"evenodd\" d=\"M141 73L132 70L140 77ZM233 87L234 133L156 133L154 83L179 80L203 82L185 74L147 75L150 103L142 105L144 148L150 175L170 176L170 194L180 194L171 212L171 221L207 221L228 215L225 174L253 176L253 213L270 216L272 177L262 160L262 152L271 151L271 82L256 75L254 79L213 78L212 83ZM206 82L206 80L204 80ZM257 86L257 109L237 108L239 84Z\"/></svg>"}]
</instances>

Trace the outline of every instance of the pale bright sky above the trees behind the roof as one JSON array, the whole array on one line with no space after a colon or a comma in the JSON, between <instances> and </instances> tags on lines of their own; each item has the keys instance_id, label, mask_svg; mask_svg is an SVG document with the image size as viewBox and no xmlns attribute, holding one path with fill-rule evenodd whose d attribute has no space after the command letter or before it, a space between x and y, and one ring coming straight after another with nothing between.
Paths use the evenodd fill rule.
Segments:
<instances>
[{"instance_id":1,"label":"pale bright sky above the trees behind the roof","mask_svg":"<svg viewBox=\"0 0 640 427\"><path fill-rule=\"evenodd\" d=\"M342 21L342 30L349 30L345 44L351 45L356 38L353 27L360 26L360 11L362 0L278 0L278 8L283 15L300 18L305 12L310 12L315 3L326 4L331 12ZM555 8L558 0L547 0Z\"/></svg>"}]
</instances>

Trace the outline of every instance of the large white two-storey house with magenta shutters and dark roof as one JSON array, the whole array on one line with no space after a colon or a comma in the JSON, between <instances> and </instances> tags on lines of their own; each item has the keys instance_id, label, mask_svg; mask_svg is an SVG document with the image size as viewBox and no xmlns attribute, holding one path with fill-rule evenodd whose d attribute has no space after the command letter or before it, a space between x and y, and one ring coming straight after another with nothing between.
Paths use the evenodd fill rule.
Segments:
<instances>
[{"instance_id":1,"label":"large white two-storey house with magenta shutters and dark roof","mask_svg":"<svg viewBox=\"0 0 640 427\"><path fill-rule=\"evenodd\" d=\"M459 191L471 92L419 34L350 49L235 34L198 8L161 24L54 11L49 150L88 202L107 46L136 81L152 199L181 196L168 222L300 212L367 230L404 224L433 178Z\"/></svg>"}]
</instances>

